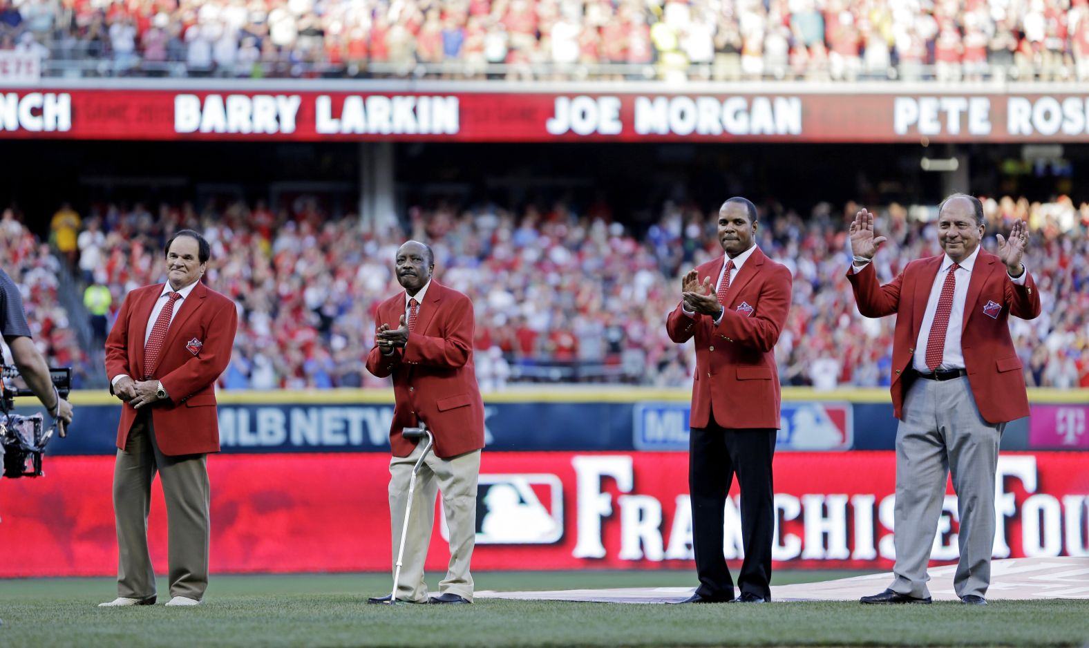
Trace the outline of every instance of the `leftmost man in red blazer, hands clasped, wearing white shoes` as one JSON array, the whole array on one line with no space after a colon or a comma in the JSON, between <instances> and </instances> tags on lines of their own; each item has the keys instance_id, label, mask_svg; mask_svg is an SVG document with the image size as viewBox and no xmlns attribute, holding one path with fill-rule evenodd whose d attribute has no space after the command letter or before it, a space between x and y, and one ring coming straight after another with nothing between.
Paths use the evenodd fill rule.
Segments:
<instances>
[{"instance_id":1,"label":"leftmost man in red blazer, hands clasped, wearing white shoes","mask_svg":"<svg viewBox=\"0 0 1089 648\"><path fill-rule=\"evenodd\" d=\"M106 340L106 372L121 405L113 509L118 598L99 607L150 606L155 571L147 515L156 473L167 501L168 606L196 606L208 586L207 453L219 452L216 379L231 359L234 303L200 283L210 248L182 230L167 243L167 283L129 293Z\"/></svg>"}]
</instances>

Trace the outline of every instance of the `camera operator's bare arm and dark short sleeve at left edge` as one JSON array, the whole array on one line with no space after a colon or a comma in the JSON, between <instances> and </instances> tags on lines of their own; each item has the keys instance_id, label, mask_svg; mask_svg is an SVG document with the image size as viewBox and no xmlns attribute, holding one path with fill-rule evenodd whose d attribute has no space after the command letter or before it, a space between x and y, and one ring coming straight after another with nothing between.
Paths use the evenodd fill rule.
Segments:
<instances>
[{"instance_id":1,"label":"camera operator's bare arm and dark short sleeve at left edge","mask_svg":"<svg viewBox=\"0 0 1089 648\"><path fill-rule=\"evenodd\" d=\"M30 327L26 323L19 286L3 269L0 269L0 330L11 349L11 357L19 367L20 375L41 401L49 416L58 423L57 431L63 437L65 428L72 423L72 405L57 392L49 377L49 365L30 339ZM0 457L2 456L3 448L0 447Z\"/></svg>"}]
</instances>

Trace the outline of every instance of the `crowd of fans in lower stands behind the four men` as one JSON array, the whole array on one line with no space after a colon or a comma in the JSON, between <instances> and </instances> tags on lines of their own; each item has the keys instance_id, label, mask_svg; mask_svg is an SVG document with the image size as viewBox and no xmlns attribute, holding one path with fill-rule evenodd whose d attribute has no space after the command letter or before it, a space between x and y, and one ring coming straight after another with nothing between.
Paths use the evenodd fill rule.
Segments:
<instances>
[{"instance_id":1,"label":"crowd of fans in lower stands behind the four men","mask_svg":"<svg viewBox=\"0 0 1089 648\"><path fill-rule=\"evenodd\" d=\"M889 382L894 319L860 316L845 278L847 222L857 207L821 204L799 215L761 206L758 242L794 273L794 303L776 347L784 384ZM1043 313L1031 321L1011 318L1028 384L1089 388L1089 205L1005 197L984 199L984 245L992 249L994 233L1008 231L1014 219L1028 221L1031 231L1025 264ZM877 229L890 239L876 259L883 280L938 252L932 206L877 212ZM228 389L384 384L364 363L377 304L402 290L392 260L407 237L429 242L437 279L473 298L477 372L486 389L515 380L674 387L690 381L694 349L671 342L664 319L678 302L680 277L722 254L715 221L717 212L666 204L660 220L636 236L601 205L585 213L564 205L517 212L439 207L413 209L404 231L374 232L354 216L327 218L316 201L301 198L277 210L261 201L203 211L188 204L155 211L105 205L83 218L62 210L53 240L59 245L74 235L74 269L89 288L108 289L112 319L127 291L163 280L161 246L170 232L203 231L212 250L207 281L240 308L235 352L222 378ZM77 234L66 231L73 222ZM57 362L79 362L59 323L64 314L47 270L57 261L8 216L0 230L9 252L23 250L17 273L47 351Z\"/></svg>"}]
</instances>

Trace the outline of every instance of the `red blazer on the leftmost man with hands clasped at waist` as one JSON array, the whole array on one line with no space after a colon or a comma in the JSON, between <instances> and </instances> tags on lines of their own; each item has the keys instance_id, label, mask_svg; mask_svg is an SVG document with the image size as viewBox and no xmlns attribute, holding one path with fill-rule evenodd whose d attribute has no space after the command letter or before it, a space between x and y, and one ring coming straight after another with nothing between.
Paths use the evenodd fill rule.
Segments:
<instances>
[{"instance_id":1,"label":"red blazer on the leftmost man with hands clasped at waist","mask_svg":"<svg viewBox=\"0 0 1089 648\"><path fill-rule=\"evenodd\" d=\"M155 301L163 284L145 285L129 293L118 320L106 339L106 375L127 374L144 379L144 333ZM151 407L155 438L163 454L219 452L219 417L216 412L216 379L231 362L231 347L238 326L234 302L197 283L182 299L167 330L162 353L151 377L162 381L167 401ZM196 340L200 344L191 345ZM110 388L110 393L113 388ZM118 448L124 450L136 408L121 405Z\"/></svg>"}]
</instances>

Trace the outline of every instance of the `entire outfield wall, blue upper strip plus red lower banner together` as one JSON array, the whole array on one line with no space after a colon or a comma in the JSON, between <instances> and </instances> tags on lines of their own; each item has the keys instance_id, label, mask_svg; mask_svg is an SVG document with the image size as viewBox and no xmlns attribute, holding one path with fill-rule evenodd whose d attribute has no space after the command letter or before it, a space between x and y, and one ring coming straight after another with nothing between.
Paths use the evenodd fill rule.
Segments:
<instances>
[{"instance_id":1,"label":"entire outfield wall, blue upper strip plus red lower banner together","mask_svg":"<svg viewBox=\"0 0 1089 648\"><path fill-rule=\"evenodd\" d=\"M858 448L866 439L891 448L894 427L879 421L882 407L891 419L891 406L873 392L831 395L820 401L791 390L784 402L794 429L780 439L787 451L774 460L776 567L884 570L893 559L895 456ZM1053 441L1062 442L1069 428L1084 442L1086 394L1040 395L1032 394L1033 417L1020 424L1025 443L1049 439L1033 432L1049 426ZM686 398L648 391L486 395L492 440L481 462L474 567L693 568L687 454L668 450L682 447L674 428L686 424ZM1060 398L1067 403L1053 402ZM47 459L44 478L0 482L0 577L115 573L109 426L117 418L109 413L118 408L100 395L73 401L78 427L51 445L65 455ZM390 394L224 394L221 401L221 420L234 426L224 426L224 437L234 435L235 442L209 459L212 570L388 568L388 455L384 431L372 428L391 414ZM859 415L870 407L869 418ZM1037 416L1060 420L1045 425ZM871 432L870 425L881 427ZM253 442L281 437L276 444ZM1010 438L999 464L994 555L1089 555L1089 454L1010 451ZM799 449L821 440L829 450ZM938 562L957 555L956 498L951 488L947 493L933 547ZM725 552L736 559L736 486L732 496ZM160 571L166 522L156 486L150 538ZM437 524L428 570L443 570L446 560Z\"/></svg>"}]
</instances>

